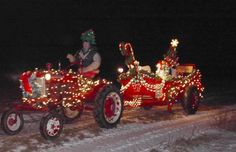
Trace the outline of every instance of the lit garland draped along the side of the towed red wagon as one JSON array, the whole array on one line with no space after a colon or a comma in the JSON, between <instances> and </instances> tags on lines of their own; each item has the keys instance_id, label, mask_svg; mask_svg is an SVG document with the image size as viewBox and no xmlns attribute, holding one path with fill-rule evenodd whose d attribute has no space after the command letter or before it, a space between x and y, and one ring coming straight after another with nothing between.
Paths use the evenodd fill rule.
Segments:
<instances>
[{"instance_id":1,"label":"lit garland draped along the side of the towed red wagon","mask_svg":"<svg viewBox=\"0 0 236 152\"><path fill-rule=\"evenodd\" d=\"M177 78L173 78L170 81L161 81L160 84L149 84L145 80L145 77L147 78L145 74L133 77L126 85L121 86L121 93L124 94L125 91L135 83L144 86L150 92L154 92L155 97L160 99L159 101L171 102L177 101L178 96L181 95L187 87L196 86L199 91L199 96L203 98L202 92L204 91L204 87L200 82L201 74L199 70L195 70L187 76L179 75ZM171 86L165 85L166 82L171 82Z\"/></svg>"}]
</instances>

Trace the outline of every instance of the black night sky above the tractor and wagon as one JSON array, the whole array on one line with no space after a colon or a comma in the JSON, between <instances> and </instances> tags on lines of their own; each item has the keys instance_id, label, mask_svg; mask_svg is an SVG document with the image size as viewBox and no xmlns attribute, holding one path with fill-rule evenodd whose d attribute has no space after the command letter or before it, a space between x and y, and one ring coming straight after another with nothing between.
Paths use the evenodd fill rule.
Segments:
<instances>
[{"instance_id":1,"label":"black night sky above the tractor and wagon","mask_svg":"<svg viewBox=\"0 0 236 152\"><path fill-rule=\"evenodd\" d=\"M195 63L204 81L234 81L235 9L230 1L1 0L0 73L19 73L60 60L80 48L80 34L95 30L103 77L115 80L123 64L120 41L133 44L142 65L162 58L178 38L180 63ZM13 53L16 51L16 53ZM2 87L7 86L3 83Z\"/></svg>"}]
</instances>

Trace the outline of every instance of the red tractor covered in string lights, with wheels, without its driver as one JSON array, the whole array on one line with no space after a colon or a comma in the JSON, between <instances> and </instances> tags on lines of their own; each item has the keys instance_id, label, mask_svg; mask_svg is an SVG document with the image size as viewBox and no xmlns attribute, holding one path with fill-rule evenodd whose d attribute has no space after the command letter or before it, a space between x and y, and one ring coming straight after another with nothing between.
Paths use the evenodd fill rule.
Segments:
<instances>
[{"instance_id":1,"label":"red tractor covered in string lights, with wheels, without its driver","mask_svg":"<svg viewBox=\"0 0 236 152\"><path fill-rule=\"evenodd\" d=\"M24 72L20 76L22 101L2 115L2 128L9 134L19 133L24 124L23 112L42 111L40 133L46 139L57 138L64 123L79 118L84 109L92 110L100 127L115 127L121 118L123 100L120 91L93 73L77 73L70 68Z\"/></svg>"}]
</instances>

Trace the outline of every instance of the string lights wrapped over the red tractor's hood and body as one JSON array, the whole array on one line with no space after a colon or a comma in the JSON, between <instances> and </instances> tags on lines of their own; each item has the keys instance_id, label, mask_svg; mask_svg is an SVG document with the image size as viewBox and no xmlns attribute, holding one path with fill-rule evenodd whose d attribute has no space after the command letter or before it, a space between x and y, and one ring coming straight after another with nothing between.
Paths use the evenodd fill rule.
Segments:
<instances>
[{"instance_id":1,"label":"string lights wrapped over the red tractor's hood and body","mask_svg":"<svg viewBox=\"0 0 236 152\"><path fill-rule=\"evenodd\" d=\"M40 73L40 75L39 75ZM46 74L50 73L52 78L49 81L45 81L46 94L40 96L40 86L37 83L37 78L44 78ZM26 75L26 73L23 73ZM32 87L32 93L25 90L21 80L21 89L23 94L23 102L31 105L34 108L41 109L48 106L49 103L54 105L62 104L63 107L76 107L85 100L86 95L93 90L94 87L99 84L111 84L106 80L93 81L82 75L78 75L75 72L63 72L63 71L42 71L33 72L28 74L29 86ZM36 92L36 93L35 93Z\"/></svg>"}]
</instances>

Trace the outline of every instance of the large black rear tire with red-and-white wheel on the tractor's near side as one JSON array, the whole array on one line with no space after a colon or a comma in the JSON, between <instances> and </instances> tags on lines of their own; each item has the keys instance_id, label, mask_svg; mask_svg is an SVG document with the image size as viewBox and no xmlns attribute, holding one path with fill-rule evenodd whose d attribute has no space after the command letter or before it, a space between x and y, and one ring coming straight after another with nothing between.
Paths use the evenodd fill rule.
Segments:
<instances>
[{"instance_id":1,"label":"large black rear tire with red-and-white wheel on the tractor's near side","mask_svg":"<svg viewBox=\"0 0 236 152\"><path fill-rule=\"evenodd\" d=\"M107 129L116 127L123 113L123 105L123 99L117 87L108 85L99 91L93 111L98 125Z\"/></svg>"}]
</instances>

